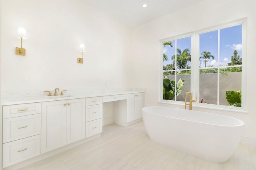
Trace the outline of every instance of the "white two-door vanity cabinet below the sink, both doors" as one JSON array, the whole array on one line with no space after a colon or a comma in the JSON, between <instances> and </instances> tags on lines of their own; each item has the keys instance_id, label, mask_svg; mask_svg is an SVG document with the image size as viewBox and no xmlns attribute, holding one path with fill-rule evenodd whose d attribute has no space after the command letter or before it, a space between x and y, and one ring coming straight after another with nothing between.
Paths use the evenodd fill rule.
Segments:
<instances>
[{"instance_id":1,"label":"white two-door vanity cabinet below the sink, both doors","mask_svg":"<svg viewBox=\"0 0 256 170\"><path fill-rule=\"evenodd\" d=\"M85 138L85 99L42 102L41 152Z\"/></svg>"}]
</instances>

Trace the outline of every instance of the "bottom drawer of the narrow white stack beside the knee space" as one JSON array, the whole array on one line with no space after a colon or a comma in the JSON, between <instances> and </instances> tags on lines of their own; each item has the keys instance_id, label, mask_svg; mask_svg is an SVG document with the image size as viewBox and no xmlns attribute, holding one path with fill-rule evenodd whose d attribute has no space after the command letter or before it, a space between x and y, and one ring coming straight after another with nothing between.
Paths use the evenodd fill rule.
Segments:
<instances>
[{"instance_id":1,"label":"bottom drawer of the narrow white stack beside the knee space","mask_svg":"<svg viewBox=\"0 0 256 170\"><path fill-rule=\"evenodd\" d=\"M85 123L85 137L90 137L102 132L102 119Z\"/></svg>"}]
</instances>

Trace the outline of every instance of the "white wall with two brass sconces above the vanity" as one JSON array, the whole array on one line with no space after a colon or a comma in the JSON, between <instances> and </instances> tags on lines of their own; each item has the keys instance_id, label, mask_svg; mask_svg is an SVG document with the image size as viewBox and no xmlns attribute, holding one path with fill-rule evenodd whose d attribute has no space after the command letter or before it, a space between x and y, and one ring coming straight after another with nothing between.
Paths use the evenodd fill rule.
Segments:
<instances>
[{"instance_id":1,"label":"white wall with two brass sconces above the vanity","mask_svg":"<svg viewBox=\"0 0 256 170\"><path fill-rule=\"evenodd\" d=\"M27 32L24 57L15 55L18 27ZM79 0L2 0L2 91L122 87L129 37L126 26Z\"/></svg>"}]
</instances>

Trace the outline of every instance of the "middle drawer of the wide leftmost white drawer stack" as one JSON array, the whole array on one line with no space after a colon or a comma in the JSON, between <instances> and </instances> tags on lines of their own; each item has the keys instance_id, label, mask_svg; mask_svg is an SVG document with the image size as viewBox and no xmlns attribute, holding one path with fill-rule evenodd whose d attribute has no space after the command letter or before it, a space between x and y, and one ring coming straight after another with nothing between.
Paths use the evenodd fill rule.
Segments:
<instances>
[{"instance_id":1,"label":"middle drawer of the wide leftmost white drawer stack","mask_svg":"<svg viewBox=\"0 0 256 170\"><path fill-rule=\"evenodd\" d=\"M41 133L41 114L3 119L3 143Z\"/></svg>"}]
</instances>

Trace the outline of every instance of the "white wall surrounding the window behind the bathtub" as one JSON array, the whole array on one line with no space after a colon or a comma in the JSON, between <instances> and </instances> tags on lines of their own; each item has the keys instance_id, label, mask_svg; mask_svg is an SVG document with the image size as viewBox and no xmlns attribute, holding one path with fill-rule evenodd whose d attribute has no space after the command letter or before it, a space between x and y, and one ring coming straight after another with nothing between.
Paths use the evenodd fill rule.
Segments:
<instances>
[{"instance_id":1,"label":"white wall surrounding the window behind the bathtub","mask_svg":"<svg viewBox=\"0 0 256 170\"><path fill-rule=\"evenodd\" d=\"M205 0L174 12L157 20L132 29L132 55L127 59L130 66L128 86L146 87L146 106L171 106L158 103L158 80L162 68L160 39L188 33L198 29L219 25L229 21L248 17L248 47L247 47L247 90L248 113L232 113L210 109L200 109L237 117L244 121L244 135L256 139L255 112L255 63L254 49L256 47L256 11L253 9L255 0ZM160 58L159 58L160 57ZM246 68L245 68L246 69ZM174 106L181 107L184 106ZM256 142L255 142L256 145Z\"/></svg>"}]
</instances>

